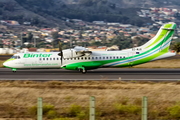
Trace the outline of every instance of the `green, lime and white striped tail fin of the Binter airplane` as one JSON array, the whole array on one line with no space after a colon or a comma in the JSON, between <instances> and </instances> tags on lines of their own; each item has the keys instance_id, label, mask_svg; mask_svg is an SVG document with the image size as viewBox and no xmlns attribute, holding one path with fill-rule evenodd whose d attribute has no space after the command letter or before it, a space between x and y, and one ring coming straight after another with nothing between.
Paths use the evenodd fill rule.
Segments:
<instances>
[{"instance_id":1,"label":"green, lime and white striped tail fin of the Binter airplane","mask_svg":"<svg viewBox=\"0 0 180 120\"><path fill-rule=\"evenodd\" d=\"M164 24L154 38L140 46L142 50L159 48L159 52L168 52L176 24L173 22Z\"/></svg>"}]
</instances>

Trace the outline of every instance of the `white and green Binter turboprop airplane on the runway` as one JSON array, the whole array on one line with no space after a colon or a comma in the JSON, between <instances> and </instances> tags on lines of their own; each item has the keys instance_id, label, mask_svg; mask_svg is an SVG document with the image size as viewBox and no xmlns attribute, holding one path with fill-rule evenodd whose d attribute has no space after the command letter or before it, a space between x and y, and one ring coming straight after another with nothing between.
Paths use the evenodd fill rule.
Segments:
<instances>
[{"instance_id":1,"label":"white and green Binter turboprop airplane on the runway","mask_svg":"<svg viewBox=\"0 0 180 120\"><path fill-rule=\"evenodd\" d=\"M14 54L3 65L16 72L17 69L63 68L87 70L103 67L128 67L176 55L169 50L175 23L164 24L156 36L142 46L121 51L89 51L84 47L62 50L60 52L29 52Z\"/></svg>"}]
</instances>

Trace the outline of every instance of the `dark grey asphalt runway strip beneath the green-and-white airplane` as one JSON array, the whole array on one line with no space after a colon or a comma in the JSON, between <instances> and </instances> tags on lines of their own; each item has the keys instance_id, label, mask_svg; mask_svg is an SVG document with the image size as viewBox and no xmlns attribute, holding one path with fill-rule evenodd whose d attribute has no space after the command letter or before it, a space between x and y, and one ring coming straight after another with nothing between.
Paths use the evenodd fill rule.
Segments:
<instances>
[{"instance_id":1,"label":"dark grey asphalt runway strip beneath the green-and-white airplane","mask_svg":"<svg viewBox=\"0 0 180 120\"><path fill-rule=\"evenodd\" d=\"M64 69L17 70L0 68L0 80L141 80L179 81L180 69L100 68L86 74Z\"/></svg>"}]
</instances>

